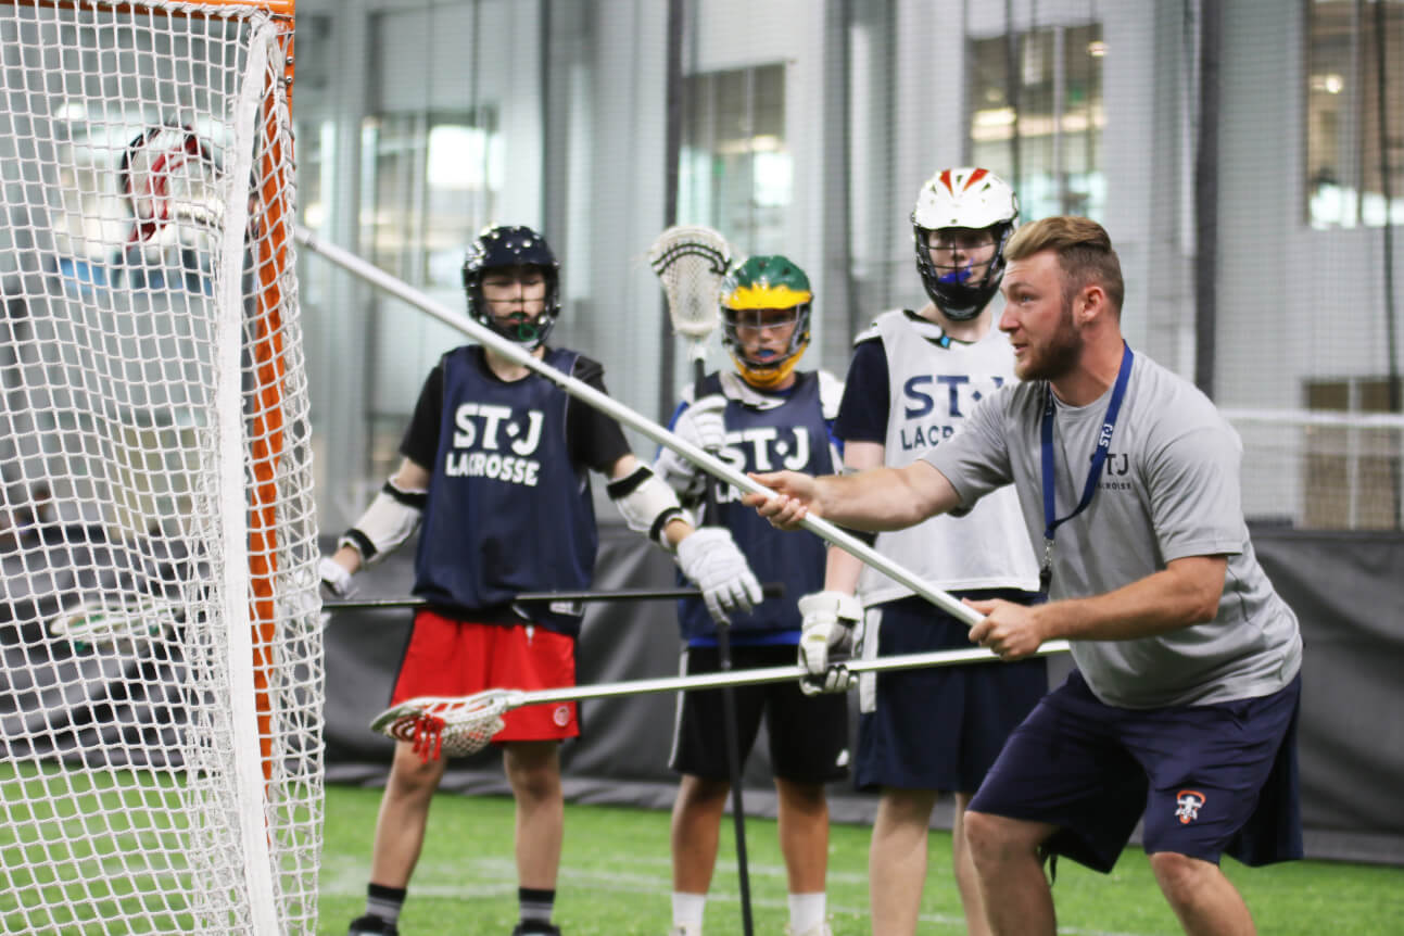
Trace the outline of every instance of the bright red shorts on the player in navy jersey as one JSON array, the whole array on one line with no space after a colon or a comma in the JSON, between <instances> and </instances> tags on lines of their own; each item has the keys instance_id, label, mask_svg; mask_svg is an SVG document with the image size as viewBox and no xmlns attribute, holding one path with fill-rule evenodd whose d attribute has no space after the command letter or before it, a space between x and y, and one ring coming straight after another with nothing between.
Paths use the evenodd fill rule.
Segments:
<instances>
[{"instance_id":1,"label":"bright red shorts on the player in navy jersey","mask_svg":"<svg viewBox=\"0 0 1404 936\"><path fill-rule=\"evenodd\" d=\"M576 685L576 641L531 624L475 624L431 610L414 615L410 646L390 704L414 696L470 696L484 689L555 689ZM580 734L574 702L512 709L503 741L559 741Z\"/></svg>"}]
</instances>

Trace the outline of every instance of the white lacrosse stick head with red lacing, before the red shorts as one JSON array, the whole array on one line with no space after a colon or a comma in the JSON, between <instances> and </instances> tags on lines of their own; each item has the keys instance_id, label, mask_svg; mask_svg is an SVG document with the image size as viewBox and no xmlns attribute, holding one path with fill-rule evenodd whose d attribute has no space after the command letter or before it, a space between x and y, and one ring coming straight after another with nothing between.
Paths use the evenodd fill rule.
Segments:
<instances>
[{"instance_id":1,"label":"white lacrosse stick head with red lacing, before the red shorts","mask_svg":"<svg viewBox=\"0 0 1404 936\"><path fill-rule=\"evenodd\" d=\"M477 754L503 730L503 713L519 692L489 689L473 696L416 696L390 706L371 723L372 731L407 741L424 761Z\"/></svg>"}]
</instances>

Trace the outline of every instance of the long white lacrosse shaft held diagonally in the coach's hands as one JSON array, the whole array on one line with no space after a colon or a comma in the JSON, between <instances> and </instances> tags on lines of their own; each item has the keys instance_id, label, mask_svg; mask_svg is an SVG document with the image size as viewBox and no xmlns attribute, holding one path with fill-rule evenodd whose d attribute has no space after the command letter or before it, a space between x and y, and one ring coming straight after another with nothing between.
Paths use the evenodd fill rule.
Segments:
<instances>
[{"instance_id":1,"label":"long white lacrosse shaft held diagonally in the coach's hands","mask_svg":"<svg viewBox=\"0 0 1404 936\"><path fill-rule=\"evenodd\" d=\"M323 257L326 257L336 265L341 267L347 272L351 272L365 279L366 282L389 292L390 295L399 296L404 302L418 307L421 312L432 316L434 319L438 319L451 328L462 331L468 337L475 338L483 345L491 348L504 358L515 363L519 363L524 368L535 370L536 373L542 375L543 377L559 386L570 396L577 397L584 403L592 406L594 408L600 410L605 415L614 417L616 421L623 422L625 425L633 429L637 429L639 432L649 436L658 445L673 449L674 452L677 452L687 460L692 462L712 477L726 481L727 484L731 484L733 487L746 491L748 494L775 497L775 493L771 488L757 481L753 481L751 479L746 477L744 474L733 469L730 464L726 464L724 462L717 459L716 456L709 455L708 452L699 449L691 442L687 442L685 439L678 438L673 432L668 432L665 428L663 428L653 420L649 420L635 413L629 407L623 406L618 400L614 400L609 396L600 393L588 383L577 380L569 373L562 373L556 368L552 368L549 363L538 361L535 356L532 356L518 345L512 344L507 338L503 338L493 330L477 324L476 321L473 321L461 312L456 312L453 309L449 309L448 306L444 306L442 303L435 302L434 299L425 296L418 289L414 289L413 286L410 286L406 282L402 282L400 279L396 279L388 272L361 260L355 254L343 250L336 244L329 244L322 241L306 227L302 226L295 227L293 236L309 250L312 250L316 254L322 254ZM969 605L960 603L959 601L956 601L955 598L952 598L951 595L938 588L932 588L915 574L903 568L901 566L892 561L886 556L882 556L880 553L878 553L878 550L868 546L868 543L863 543L858 537L844 532L842 529L834 526L828 521L821 519L819 516L806 516L803 521L800 521L800 526L810 530L816 536L824 539L826 542L833 543L838 549L851 553L852 556L856 556L858 559L868 563L869 566L880 571L883 575L887 575L893 581L906 585L917 595L921 595L932 605L936 605L938 608L945 610L948 615L956 617L958 620L965 622L967 627L974 627L984 619L984 616L976 609L970 608ZM1043 647L1040 647L1039 653L1040 654L1063 653L1066 650L1068 650L1068 644L1066 640L1050 640L1045 643ZM852 667L849 667L849 669L852 669ZM790 678L795 676L793 671L786 671L786 672Z\"/></svg>"}]
</instances>

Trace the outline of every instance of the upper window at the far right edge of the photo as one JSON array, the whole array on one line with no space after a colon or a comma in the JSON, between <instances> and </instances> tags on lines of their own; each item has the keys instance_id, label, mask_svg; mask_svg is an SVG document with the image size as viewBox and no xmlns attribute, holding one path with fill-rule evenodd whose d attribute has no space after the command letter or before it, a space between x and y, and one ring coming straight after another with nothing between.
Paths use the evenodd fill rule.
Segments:
<instances>
[{"instance_id":1,"label":"upper window at the far right edge of the photo","mask_svg":"<svg viewBox=\"0 0 1404 936\"><path fill-rule=\"evenodd\" d=\"M1397 225L1404 220L1404 3L1316 0L1307 11L1307 222L1377 227L1389 202Z\"/></svg>"}]
</instances>

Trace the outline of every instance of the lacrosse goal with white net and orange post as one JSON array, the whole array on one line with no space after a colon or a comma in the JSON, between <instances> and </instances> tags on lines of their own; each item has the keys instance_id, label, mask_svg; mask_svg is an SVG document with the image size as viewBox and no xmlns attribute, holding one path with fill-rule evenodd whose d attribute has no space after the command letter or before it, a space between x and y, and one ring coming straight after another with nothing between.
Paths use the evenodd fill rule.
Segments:
<instances>
[{"instance_id":1,"label":"lacrosse goal with white net and orange post","mask_svg":"<svg viewBox=\"0 0 1404 936\"><path fill-rule=\"evenodd\" d=\"M0 929L314 932L293 0L0 0Z\"/></svg>"}]
</instances>

